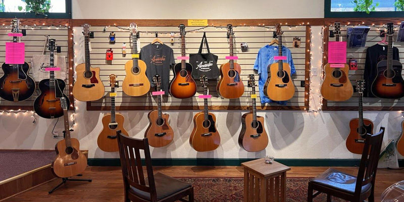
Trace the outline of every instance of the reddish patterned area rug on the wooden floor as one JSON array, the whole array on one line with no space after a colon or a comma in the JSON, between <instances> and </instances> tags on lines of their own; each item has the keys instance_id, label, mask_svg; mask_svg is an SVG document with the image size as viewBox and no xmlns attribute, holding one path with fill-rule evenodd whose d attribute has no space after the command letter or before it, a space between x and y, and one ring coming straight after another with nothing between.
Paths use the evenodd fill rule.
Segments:
<instances>
[{"instance_id":1,"label":"reddish patterned area rug on the wooden floor","mask_svg":"<svg viewBox=\"0 0 404 202\"><path fill-rule=\"evenodd\" d=\"M198 202L243 202L244 179L228 178L177 178L194 186L195 201ZM286 202L307 201L307 187L310 178L286 178ZM314 198L316 202L327 201L325 194ZM332 198L333 202L342 202Z\"/></svg>"}]
</instances>

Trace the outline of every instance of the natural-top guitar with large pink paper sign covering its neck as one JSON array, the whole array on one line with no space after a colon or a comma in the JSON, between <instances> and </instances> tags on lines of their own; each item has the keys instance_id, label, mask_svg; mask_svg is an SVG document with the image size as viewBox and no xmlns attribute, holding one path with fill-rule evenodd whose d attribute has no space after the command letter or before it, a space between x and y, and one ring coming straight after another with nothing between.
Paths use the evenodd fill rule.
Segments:
<instances>
[{"instance_id":1,"label":"natural-top guitar with large pink paper sign covering its neck","mask_svg":"<svg viewBox=\"0 0 404 202\"><path fill-rule=\"evenodd\" d=\"M334 24L334 33L336 41L339 41L340 23ZM349 81L348 64L342 64L341 67L334 68L332 64L327 63L324 66L324 80L321 83L321 95L327 100L344 101L352 97L354 87Z\"/></svg>"}]
</instances>

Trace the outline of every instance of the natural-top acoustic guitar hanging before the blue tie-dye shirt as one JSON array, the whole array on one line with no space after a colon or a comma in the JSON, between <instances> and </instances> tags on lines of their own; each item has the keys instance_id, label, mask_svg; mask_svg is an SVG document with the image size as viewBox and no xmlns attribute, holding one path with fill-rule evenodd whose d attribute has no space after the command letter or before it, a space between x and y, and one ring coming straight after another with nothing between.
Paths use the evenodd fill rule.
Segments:
<instances>
[{"instance_id":1,"label":"natural-top acoustic guitar hanging before the blue tie-dye shirt","mask_svg":"<svg viewBox=\"0 0 404 202\"><path fill-rule=\"evenodd\" d=\"M278 60L277 63L269 66L270 75L264 85L264 93L274 101L289 100L294 95L294 84L290 75L290 66L283 63L282 57L282 30L281 25L276 24L276 34L278 36Z\"/></svg>"}]
</instances>

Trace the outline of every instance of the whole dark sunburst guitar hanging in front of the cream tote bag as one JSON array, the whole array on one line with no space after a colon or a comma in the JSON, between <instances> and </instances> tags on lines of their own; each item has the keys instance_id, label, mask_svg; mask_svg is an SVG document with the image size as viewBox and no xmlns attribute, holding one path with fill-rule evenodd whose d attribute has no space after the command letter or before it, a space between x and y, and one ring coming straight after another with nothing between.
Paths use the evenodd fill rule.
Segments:
<instances>
[{"instance_id":1,"label":"whole dark sunburst guitar hanging in front of the cream tote bag","mask_svg":"<svg viewBox=\"0 0 404 202\"><path fill-rule=\"evenodd\" d=\"M46 119L59 118L63 116L63 109L61 106L62 97L65 98L66 103L70 106L69 97L63 93L66 83L62 79L55 79L55 72L53 68L54 51L56 48L56 40L49 39L49 53L50 53L50 69L49 79L43 79L39 82L38 87L41 93L34 101L34 111L38 116Z\"/></svg>"}]
</instances>

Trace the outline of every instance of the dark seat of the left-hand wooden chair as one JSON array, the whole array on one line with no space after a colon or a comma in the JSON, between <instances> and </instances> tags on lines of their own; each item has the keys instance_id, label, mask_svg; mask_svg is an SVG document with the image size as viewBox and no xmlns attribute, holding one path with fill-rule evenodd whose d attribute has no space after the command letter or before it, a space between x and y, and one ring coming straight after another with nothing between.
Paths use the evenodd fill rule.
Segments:
<instances>
[{"instance_id":1,"label":"dark seat of the left-hand wooden chair","mask_svg":"<svg viewBox=\"0 0 404 202\"><path fill-rule=\"evenodd\" d=\"M169 195L177 193L181 190L191 187L191 184L182 182L170 176L164 175L163 173L156 173L154 174L155 184L156 184L156 192L157 192L157 199L160 200L165 198ZM148 182L147 178L145 180L146 184ZM141 191L130 186L130 192L133 194L144 198L146 200L150 200L150 194L148 192Z\"/></svg>"}]
</instances>

